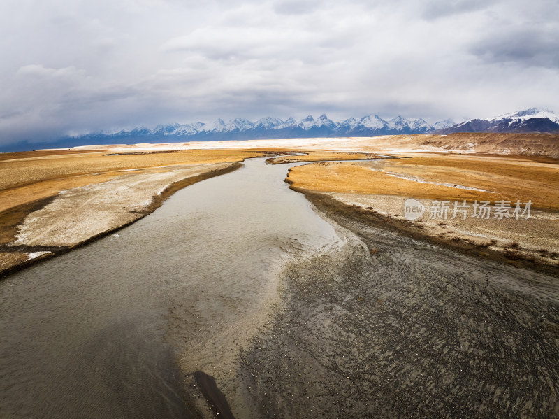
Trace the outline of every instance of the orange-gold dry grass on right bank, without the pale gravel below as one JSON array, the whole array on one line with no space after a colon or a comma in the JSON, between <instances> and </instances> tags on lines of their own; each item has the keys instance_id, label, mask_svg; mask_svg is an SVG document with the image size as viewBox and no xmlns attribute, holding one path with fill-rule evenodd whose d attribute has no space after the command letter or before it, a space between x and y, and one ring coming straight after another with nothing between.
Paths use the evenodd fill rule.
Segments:
<instances>
[{"instance_id":1,"label":"orange-gold dry grass on right bank, without the pale gravel below","mask_svg":"<svg viewBox=\"0 0 559 419\"><path fill-rule=\"evenodd\" d=\"M535 208L559 211L559 166L555 159L431 156L385 159L380 163L333 162L297 166L289 173L289 180L294 187L319 192L397 195L450 201L520 199L525 202L530 199ZM413 176L427 183L391 175Z\"/></svg>"}]
</instances>

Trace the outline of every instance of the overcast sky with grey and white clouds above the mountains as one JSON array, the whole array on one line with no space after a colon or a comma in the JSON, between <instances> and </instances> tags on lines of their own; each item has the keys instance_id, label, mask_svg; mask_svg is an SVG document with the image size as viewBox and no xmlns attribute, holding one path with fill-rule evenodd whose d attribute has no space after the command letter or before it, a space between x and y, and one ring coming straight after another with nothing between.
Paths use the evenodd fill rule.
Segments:
<instances>
[{"instance_id":1,"label":"overcast sky with grey and white clouds above the mountains","mask_svg":"<svg viewBox=\"0 0 559 419\"><path fill-rule=\"evenodd\" d=\"M557 0L1 0L0 143L217 117L559 112Z\"/></svg>"}]
</instances>

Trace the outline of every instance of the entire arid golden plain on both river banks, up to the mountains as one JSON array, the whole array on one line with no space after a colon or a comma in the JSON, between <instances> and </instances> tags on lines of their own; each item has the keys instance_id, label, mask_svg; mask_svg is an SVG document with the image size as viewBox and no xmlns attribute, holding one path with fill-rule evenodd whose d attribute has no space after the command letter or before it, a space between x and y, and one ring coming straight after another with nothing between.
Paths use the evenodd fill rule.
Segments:
<instances>
[{"instance_id":1,"label":"entire arid golden plain on both river banks, up to the mountains","mask_svg":"<svg viewBox=\"0 0 559 419\"><path fill-rule=\"evenodd\" d=\"M6 153L0 155L0 274L128 225L181 187L235 170L243 159L293 153L299 155L268 162L317 162L294 167L286 181L354 208L356 216L374 213L386 225L477 255L559 264L558 136L451 134ZM408 221L407 198L426 208L437 200L531 201L532 207L529 219L426 213Z\"/></svg>"}]
</instances>

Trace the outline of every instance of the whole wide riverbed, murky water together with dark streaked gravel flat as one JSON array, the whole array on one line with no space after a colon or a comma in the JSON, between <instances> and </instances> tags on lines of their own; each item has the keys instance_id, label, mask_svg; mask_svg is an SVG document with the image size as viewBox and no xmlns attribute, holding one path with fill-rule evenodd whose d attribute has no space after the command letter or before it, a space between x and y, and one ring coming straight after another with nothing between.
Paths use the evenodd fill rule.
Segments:
<instances>
[{"instance_id":1,"label":"whole wide riverbed, murky water together with dark streaked gravel flat","mask_svg":"<svg viewBox=\"0 0 559 419\"><path fill-rule=\"evenodd\" d=\"M0 416L559 417L557 278L371 225L250 159L0 282Z\"/></svg>"}]
</instances>

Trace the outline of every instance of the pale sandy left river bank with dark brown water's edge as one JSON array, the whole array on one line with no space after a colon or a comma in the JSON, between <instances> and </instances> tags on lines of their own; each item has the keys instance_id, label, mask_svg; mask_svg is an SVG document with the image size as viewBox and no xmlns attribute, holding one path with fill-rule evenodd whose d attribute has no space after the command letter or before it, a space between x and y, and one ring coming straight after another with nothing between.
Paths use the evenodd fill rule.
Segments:
<instances>
[{"instance_id":1,"label":"pale sandy left river bank with dark brown water's edge","mask_svg":"<svg viewBox=\"0 0 559 419\"><path fill-rule=\"evenodd\" d=\"M120 173L3 211L0 278L108 236L144 218L188 185L241 163L171 166Z\"/></svg>"}]
</instances>

